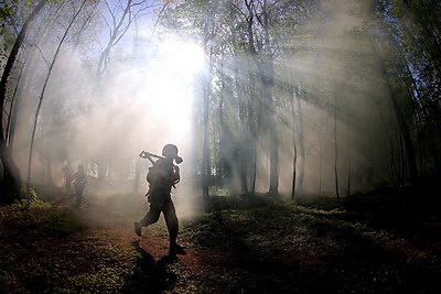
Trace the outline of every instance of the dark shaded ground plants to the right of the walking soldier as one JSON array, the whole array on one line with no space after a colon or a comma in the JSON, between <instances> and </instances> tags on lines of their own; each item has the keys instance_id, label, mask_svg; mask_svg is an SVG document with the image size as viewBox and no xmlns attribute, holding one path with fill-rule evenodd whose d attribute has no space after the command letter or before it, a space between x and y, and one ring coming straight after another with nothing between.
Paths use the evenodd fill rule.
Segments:
<instances>
[{"instance_id":1,"label":"dark shaded ground plants to the right of the walking soldier","mask_svg":"<svg viewBox=\"0 0 441 294\"><path fill-rule=\"evenodd\" d=\"M415 260L401 254L402 247L410 246L401 233L420 220L418 214L406 213L402 207L400 213L392 213L399 198L394 197L386 206L369 197L351 198L347 204L345 199L338 203L315 197L284 205L266 202L247 209L235 209L236 202L233 199L229 207L224 203L224 209L206 215L184 231L183 238L205 250L214 249L213 258L225 257L214 261L222 264L219 268L200 277L200 290L346 293L437 288L437 279L430 273L441 270L433 266L439 260L437 252ZM357 202L363 204L359 208L367 207L364 202L374 203L358 210L354 206ZM388 215L379 214L383 209ZM376 221L378 217L380 222ZM416 235L422 232L415 229ZM418 274L426 276L424 282L409 280L417 269L424 273Z\"/></svg>"}]
</instances>

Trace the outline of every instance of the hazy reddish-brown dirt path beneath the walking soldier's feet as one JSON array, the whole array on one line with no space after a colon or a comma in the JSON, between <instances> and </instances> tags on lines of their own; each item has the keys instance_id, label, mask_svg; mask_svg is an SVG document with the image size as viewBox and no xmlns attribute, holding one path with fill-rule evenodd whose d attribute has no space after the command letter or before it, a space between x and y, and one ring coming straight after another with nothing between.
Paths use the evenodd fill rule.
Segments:
<instances>
[{"instance_id":1,"label":"hazy reddish-brown dirt path beneath the walking soldier's feet","mask_svg":"<svg viewBox=\"0 0 441 294\"><path fill-rule=\"evenodd\" d=\"M58 207L72 209L74 198L64 197L65 202ZM139 220L148 210L143 205L143 197L132 197L125 195L114 195L112 197L88 197L79 210L72 211L77 218L92 228L97 228L115 237L117 242L126 248L142 250L146 254L153 258L155 262L161 262L169 257L169 238L166 226L161 215L159 221L142 229L142 236L135 233L133 221ZM185 217L181 218L180 208L183 206L180 200L175 200L178 217L181 222L185 222ZM185 204L184 204L185 205ZM222 260L226 260L226 253L197 249L189 242L179 239L181 246L186 247L185 255L178 255L173 262L178 262L181 271L186 276L196 276L216 266ZM220 262L222 263L222 262Z\"/></svg>"}]
</instances>

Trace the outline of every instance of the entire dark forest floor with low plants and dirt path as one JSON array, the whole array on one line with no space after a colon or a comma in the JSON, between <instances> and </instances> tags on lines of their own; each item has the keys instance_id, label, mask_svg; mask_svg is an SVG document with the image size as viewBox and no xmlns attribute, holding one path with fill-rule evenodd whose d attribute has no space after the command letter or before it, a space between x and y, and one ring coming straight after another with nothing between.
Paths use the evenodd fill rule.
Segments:
<instances>
[{"instance_id":1,"label":"entire dark forest floor with low plants and dirt path","mask_svg":"<svg viewBox=\"0 0 441 294\"><path fill-rule=\"evenodd\" d=\"M0 293L441 293L441 205L422 190L218 196L211 214L181 196L186 255L162 217L135 233L141 196L43 194L0 207Z\"/></svg>"}]
</instances>

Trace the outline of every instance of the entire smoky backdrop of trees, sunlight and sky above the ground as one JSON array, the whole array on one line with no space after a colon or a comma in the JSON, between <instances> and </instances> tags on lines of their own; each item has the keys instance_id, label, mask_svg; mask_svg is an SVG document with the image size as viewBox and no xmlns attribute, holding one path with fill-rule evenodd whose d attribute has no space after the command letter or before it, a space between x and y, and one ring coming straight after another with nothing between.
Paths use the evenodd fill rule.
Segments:
<instances>
[{"instance_id":1,"label":"entire smoky backdrop of trees, sunlight and sky above the ground","mask_svg":"<svg viewBox=\"0 0 441 294\"><path fill-rule=\"evenodd\" d=\"M138 154L165 143L204 198L439 176L440 13L438 0L3 1L0 203L63 186L66 164L139 192Z\"/></svg>"}]
</instances>

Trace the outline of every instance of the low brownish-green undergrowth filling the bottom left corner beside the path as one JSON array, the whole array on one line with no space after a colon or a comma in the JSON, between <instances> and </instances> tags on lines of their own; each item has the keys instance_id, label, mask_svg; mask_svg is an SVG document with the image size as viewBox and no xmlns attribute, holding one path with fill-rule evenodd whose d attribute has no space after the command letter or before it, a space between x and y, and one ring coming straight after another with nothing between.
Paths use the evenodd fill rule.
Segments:
<instances>
[{"instance_id":1,"label":"low brownish-green undergrowth filling the bottom left corner beside the path","mask_svg":"<svg viewBox=\"0 0 441 294\"><path fill-rule=\"evenodd\" d=\"M0 207L0 293L118 292L136 258L42 202Z\"/></svg>"}]
</instances>

